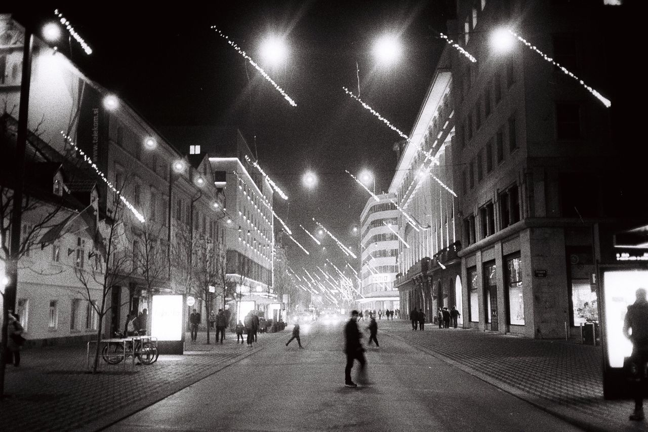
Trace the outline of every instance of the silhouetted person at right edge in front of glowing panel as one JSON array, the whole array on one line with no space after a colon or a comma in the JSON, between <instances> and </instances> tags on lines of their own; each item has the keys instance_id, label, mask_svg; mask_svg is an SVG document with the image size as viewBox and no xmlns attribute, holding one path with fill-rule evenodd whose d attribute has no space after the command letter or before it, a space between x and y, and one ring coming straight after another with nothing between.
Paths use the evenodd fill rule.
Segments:
<instances>
[{"instance_id":1,"label":"silhouetted person at right edge in front of glowing panel","mask_svg":"<svg viewBox=\"0 0 648 432\"><path fill-rule=\"evenodd\" d=\"M632 334L631 331L632 330ZM632 375L634 376L634 413L630 420L643 420L643 392L645 391L648 377L646 376L648 364L648 301L646 290L640 288L636 291L636 301L628 306L623 322L623 335L632 342Z\"/></svg>"}]
</instances>

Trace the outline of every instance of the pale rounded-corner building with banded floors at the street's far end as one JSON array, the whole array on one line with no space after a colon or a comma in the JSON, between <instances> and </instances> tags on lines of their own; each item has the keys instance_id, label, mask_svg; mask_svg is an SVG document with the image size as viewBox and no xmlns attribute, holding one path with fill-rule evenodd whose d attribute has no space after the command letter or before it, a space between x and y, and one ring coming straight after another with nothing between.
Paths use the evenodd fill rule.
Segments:
<instances>
[{"instance_id":1,"label":"pale rounded-corner building with banded floors at the street's far end","mask_svg":"<svg viewBox=\"0 0 648 432\"><path fill-rule=\"evenodd\" d=\"M367 200L360 214L360 249L362 267L360 292L356 302L360 309L399 309L400 298L393 288L398 272L397 234L399 211L391 202L394 195L376 195Z\"/></svg>"}]
</instances>

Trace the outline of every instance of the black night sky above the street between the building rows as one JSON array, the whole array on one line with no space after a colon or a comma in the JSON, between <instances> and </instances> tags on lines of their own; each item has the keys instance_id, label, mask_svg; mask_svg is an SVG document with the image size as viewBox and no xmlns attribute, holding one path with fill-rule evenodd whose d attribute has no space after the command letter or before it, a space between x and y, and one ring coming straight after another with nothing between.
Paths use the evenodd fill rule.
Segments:
<instances>
[{"instance_id":1,"label":"black night sky above the street between the building rows","mask_svg":"<svg viewBox=\"0 0 648 432\"><path fill-rule=\"evenodd\" d=\"M357 244L351 228L369 196L344 170L373 171L378 193L388 188L396 165L392 147L399 136L345 95L342 86L357 91L358 62L362 99L408 134L443 48L438 31L445 31L454 11L452 0L219 1L170 7L38 3L27 12L5 12L16 12L21 23L36 28L60 8L94 53L86 56L75 41L60 50L152 125L239 128L260 165L288 195L288 202L275 195L275 211L312 252L312 263L322 254L299 228L301 223L314 232L312 217L347 245ZM261 66L260 41L268 34L284 35L290 56L266 72L297 107L211 25ZM371 54L373 40L384 33L399 34L404 46L395 66L378 67ZM310 190L301 183L308 169L319 178ZM308 260L287 243L297 270ZM342 252L332 241L326 245L329 258L343 265Z\"/></svg>"}]
</instances>

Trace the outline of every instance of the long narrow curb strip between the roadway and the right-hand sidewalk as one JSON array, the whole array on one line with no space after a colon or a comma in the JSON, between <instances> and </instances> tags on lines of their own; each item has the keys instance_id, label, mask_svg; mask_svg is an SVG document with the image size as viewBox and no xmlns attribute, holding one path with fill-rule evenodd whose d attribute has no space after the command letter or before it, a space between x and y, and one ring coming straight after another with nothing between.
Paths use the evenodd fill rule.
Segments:
<instances>
[{"instance_id":1,"label":"long narrow curb strip between the roadway and the right-hand sidewalk","mask_svg":"<svg viewBox=\"0 0 648 432\"><path fill-rule=\"evenodd\" d=\"M592 431L592 432L609 432L609 428L603 428L599 427L596 424L593 424L592 422L588 422L585 419L581 420L579 418L574 418L573 416L569 416L568 414L561 413L560 411L557 411L555 409L552 409L551 407L548 407L546 405L542 405L539 402L535 402L531 396L536 396L532 394L531 392L525 392L522 389L518 389L512 385L509 385L507 383L504 383L503 381L499 381L498 379L492 378L491 376L488 376L487 374L484 374L483 372L480 372L474 368L471 368L470 366L463 365L453 359L450 359L450 357L446 357L443 354L439 354L438 352L435 352L434 350L427 348L425 346L422 346L422 342L419 341L411 341L410 339L403 337L402 335L392 333L392 332L385 332L386 335L389 337L393 337L395 339L401 339L402 341L405 342L410 342L412 346L415 346L418 350L425 352L426 354L432 355L432 357L435 357L448 365L452 365L459 370L462 370L463 372L466 372L467 374L470 374L471 376L474 376L475 378L481 379L481 381L484 381L485 383L488 383L489 385L492 385L493 387L496 387L504 392L507 392L511 394L512 396L515 396L516 398L523 400L526 403L529 403L530 405L533 405L534 407L537 407L538 409L545 411L546 413L549 413L564 422L567 422L568 424L571 424L572 426L578 427L579 429L583 429L584 431ZM524 385L521 385L520 387L525 387ZM526 386L529 390L531 390L531 386ZM550 396L553 396L553 394L549 393ZM542 397L542 396L539 396ZM548 401L550 402L550 401ZM561 406L561 405L559 405ZM581 416L583 414L577 413L576 416ZM633 427L634 425L627 424L627 423L621 423L618 422L614 419L606 419L608 421L614 422L616 424L616 428L613 430L635 430L635 431L645 431L643 428L635 428ZM630 429L628 429L630 427Z\"/></svg>"}]
</instances>

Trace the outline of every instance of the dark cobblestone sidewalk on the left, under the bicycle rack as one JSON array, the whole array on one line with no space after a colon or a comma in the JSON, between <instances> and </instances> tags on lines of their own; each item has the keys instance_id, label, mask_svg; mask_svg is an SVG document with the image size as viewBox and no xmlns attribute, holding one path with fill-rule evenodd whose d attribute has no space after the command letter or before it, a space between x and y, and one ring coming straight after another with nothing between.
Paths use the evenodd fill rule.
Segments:
<instances>
[{"instance_id":1,"label":"dark cobblestone sidewalk on the left, under the bicycle rack","mask_svg":"<svg viewBox=\"0 0 648 432\"><path fill-rule=\"evenodd\" d=\"M205 344L200 333L198 342L185 344L185 355L160 355L141 366L100 359L99 374L86 373L85 347L24 350L21 365L6 368L10 397L0 400L0 422L15 431L101 429L262 350L279 335L260 334L249 348L237 344L233 333L222 345Z\"/></svg>"}]
</instances>

